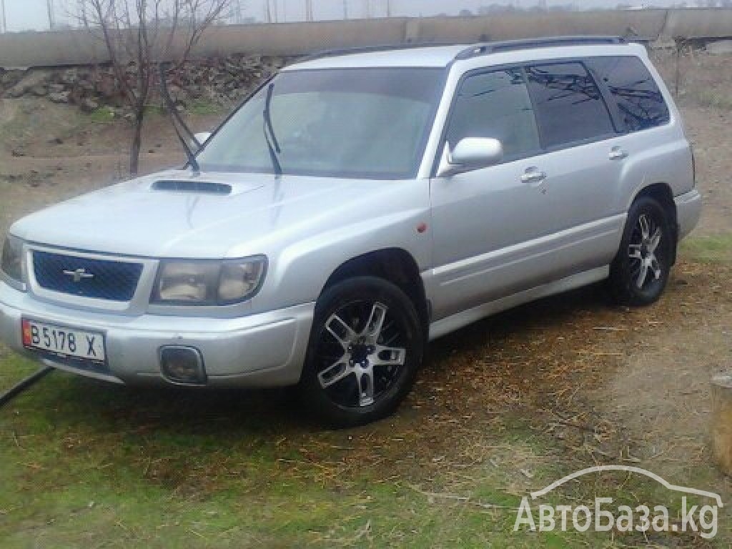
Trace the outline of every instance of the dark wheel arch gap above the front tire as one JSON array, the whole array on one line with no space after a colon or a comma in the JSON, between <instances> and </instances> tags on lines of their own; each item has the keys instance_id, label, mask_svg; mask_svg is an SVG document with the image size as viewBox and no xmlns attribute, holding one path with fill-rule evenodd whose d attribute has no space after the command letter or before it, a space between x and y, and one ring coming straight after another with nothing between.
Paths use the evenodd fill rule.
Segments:
<instances>
[{"instance_id":1,"label":"dark wheel arch gap above the front tire","mask_svg":"<svg viewBox=\"0 0 732 549\"><path fill-rule=\"evenodd\" d=\"M359 276L378 277L400 288L414 303L426 337L430 326L430 307L419 266L411 253L403 248L390 247L348 259L331 273L320 295L337 283Z\"/></svg>"}]
</instances>

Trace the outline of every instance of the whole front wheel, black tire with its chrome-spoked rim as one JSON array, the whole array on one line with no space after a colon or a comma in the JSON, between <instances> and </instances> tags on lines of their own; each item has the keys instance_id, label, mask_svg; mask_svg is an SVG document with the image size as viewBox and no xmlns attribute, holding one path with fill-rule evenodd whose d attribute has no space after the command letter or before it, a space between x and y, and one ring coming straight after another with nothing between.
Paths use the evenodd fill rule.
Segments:
<instances>
[{"instance_id":1,"label":"whole front wheel, black tire with its chrome-spoked rim","mask_svg":"<svg viewBox=\"0 0 732 549\"><path fill-rule=\"evenodd\" d=\"M315 305L300 393L333 427L392 414L422 362L422 324L400 288L356 277L327 289Z\"/></svg>"}]
</instances>

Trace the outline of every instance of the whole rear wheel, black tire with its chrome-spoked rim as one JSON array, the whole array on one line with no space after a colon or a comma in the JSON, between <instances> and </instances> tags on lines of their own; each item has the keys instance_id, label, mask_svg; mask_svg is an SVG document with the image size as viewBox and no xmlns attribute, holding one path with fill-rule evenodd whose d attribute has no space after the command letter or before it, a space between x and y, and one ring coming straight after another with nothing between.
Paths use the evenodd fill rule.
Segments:
<instances>
[{"instance_id":1,"label":"whole rear wheel, black tire with its chrome-spoked rim","mask_svg":"<svg viewBox=\"0 0 732 549\"><path fill-rule=\"evenodd\" d=\"M610 264L610 291L621 305L651 305L671 272L676 242L660 203L643 196L630 206L620 249Z\"/></svg>"}]
</instances>

